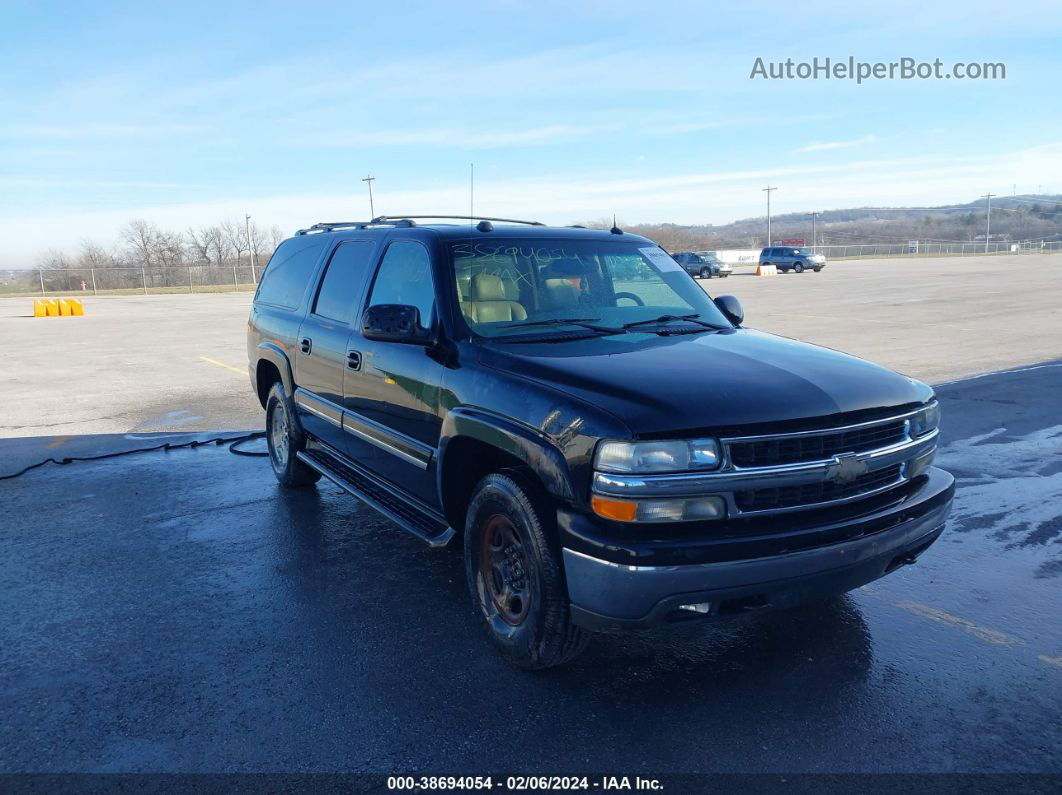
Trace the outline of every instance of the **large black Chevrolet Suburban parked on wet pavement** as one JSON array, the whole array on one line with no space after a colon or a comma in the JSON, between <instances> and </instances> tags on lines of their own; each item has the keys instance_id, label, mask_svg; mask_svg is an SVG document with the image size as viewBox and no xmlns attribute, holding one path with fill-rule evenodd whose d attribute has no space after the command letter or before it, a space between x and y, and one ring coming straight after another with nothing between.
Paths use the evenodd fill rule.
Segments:
<instances>
[{"instance_id":1,"label":"large black Chevrolet Suburban parked on wet pavement","mask_svg":"<svg viewBox=\"0 0 1062 795\"><path fill-rule=\"evenodd\" d=\"M851 590L952 503L926 384L746 328L618 228L316 224L266 267L247 353L280 484L324 476L463 545L525 668L595 629Z\"/></svg>"}]
</instances>

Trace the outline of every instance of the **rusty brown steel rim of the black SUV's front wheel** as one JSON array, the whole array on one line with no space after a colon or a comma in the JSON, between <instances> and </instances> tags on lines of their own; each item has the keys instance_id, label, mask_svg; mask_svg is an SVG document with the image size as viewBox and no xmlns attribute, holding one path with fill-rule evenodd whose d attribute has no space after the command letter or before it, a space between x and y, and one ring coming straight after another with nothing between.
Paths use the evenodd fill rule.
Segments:
<instances>
[{"instance_id":1,"label":"rusty brown steel rim of the black SUV's front wheel","mask_svg":"<svg viewBox=\"0 0 1062 795\"><path fill-rule=\"evenodd\" d=\"M508 517L486 520L480 538L479 574L498 618L519 626L531 608L527 550Z\"/></svg>"}]
</instances>

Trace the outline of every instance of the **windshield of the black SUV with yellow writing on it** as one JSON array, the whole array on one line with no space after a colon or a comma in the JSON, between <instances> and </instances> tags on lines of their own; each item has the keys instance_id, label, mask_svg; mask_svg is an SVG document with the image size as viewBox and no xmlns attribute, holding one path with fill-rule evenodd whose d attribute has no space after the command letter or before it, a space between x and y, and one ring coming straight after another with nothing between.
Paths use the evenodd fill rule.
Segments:
<instances>
[{"instance_id":1,"label":"windshield of the black SUV with yellow writing on it","mask_svg":"<svg viewBox=\"0 0 1062 795\"><path fill-rule=\"evenodd\" d=\"M450 252L461 312L483 336L621 328L664 315L731 327L681 265L645 242L464 240Z\"/></svg>"}]
</instances>

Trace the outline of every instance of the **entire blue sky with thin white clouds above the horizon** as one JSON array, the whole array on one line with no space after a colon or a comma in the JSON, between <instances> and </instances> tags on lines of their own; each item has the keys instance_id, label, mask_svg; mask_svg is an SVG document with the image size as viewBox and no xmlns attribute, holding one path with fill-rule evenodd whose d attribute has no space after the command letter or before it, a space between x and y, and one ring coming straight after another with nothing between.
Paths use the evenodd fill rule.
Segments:
<instances>
[{"instance_id":1,"label":"entire blue sky with thin white clouds above the horizon","mask_svg":"<svg viewBox=\"0 0 1062 795\"><path fill-rule=\"evenodd\" d=\"M1062 191L1057 2L0 1L0 267L138 217L725 223ZM766 61L1005 81L750 80ZM1042 186L1042 188L1041 188Z\"/></svg>"}]
</instances>

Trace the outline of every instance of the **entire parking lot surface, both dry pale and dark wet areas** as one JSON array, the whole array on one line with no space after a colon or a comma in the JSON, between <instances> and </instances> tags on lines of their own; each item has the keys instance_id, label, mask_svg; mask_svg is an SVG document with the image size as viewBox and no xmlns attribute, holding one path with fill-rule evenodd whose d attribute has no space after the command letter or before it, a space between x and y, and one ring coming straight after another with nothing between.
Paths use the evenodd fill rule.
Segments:
<instances>
[{"instance_id":1,"label":"entire parking lot surface, both dry pale and dark wet areas","mask_svg":"<svg viewBox=\"0 0 1062 795\"><path fill-rule=\"evenodd\" d=\"M705 287L941 384L959 489L918 565L527 674L459 555L327 483L212 445L48 465L0 481L0 772L1062 772L1062 258ZM247 300L0 301L0 474L259 427Z\"/></svg>"}]
</instances>

